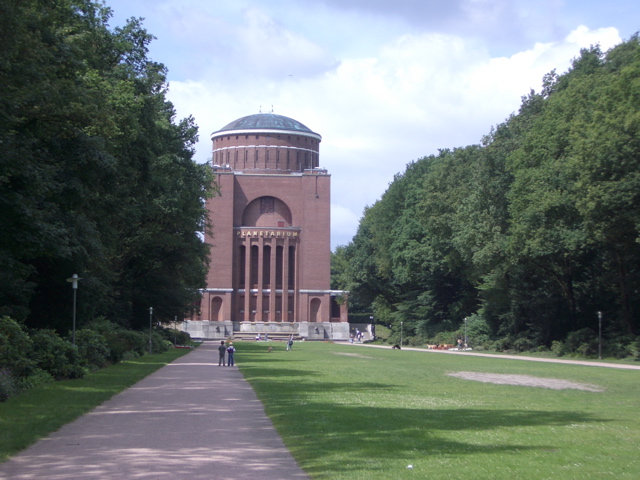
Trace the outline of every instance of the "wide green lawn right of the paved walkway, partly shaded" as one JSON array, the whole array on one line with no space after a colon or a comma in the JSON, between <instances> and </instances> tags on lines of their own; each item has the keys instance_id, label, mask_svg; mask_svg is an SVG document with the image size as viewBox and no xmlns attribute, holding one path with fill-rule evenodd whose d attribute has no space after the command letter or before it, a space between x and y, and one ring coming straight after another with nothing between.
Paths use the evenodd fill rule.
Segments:
<instances>
[{"instance_id":1,"label":"wide green lawn right of the paved walkway, partly shaded","mask_svg":"<svg viewBox=\"0 0 640 480\"><path fill-rule=\"evenodd\" d=\"M268 353L265 344L243 343L238 366L313 478L640 478L640 371L275 345ZM449 375L456 372L567 380L603 391Z\"/></svg>"}]
</instances>

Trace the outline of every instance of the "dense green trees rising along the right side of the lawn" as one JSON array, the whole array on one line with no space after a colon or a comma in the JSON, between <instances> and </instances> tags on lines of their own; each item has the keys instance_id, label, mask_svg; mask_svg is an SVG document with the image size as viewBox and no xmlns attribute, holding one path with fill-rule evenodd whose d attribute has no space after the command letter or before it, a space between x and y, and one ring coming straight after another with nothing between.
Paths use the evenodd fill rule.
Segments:
<instances>
[{"instance_id":1,"label":"dense green trees rising along the right side of the lawn","mask_svg":"<svg viewBox=\"0 0 640 480\"><path fill-rule=\"evenodd\" d=\"M394 342L593 355L602 325L607 354L640 357L638 35L545 75L480 145L408 164L332 274Z\"/></svg>"}]
</instances>

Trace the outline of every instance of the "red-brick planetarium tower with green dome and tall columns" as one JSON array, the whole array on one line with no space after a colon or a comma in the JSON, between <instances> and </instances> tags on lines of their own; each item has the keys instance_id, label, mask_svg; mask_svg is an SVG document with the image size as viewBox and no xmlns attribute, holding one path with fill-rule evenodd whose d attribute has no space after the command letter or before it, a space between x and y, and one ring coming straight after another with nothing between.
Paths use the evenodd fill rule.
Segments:
<instances>
[{"instance_id":1,"label":"red-brick planetarium tower with green dome and tall columns","mask_svg":"<svg viewBox=\"0 0 640 480\"><path fill-rule=\"evenodd\" d=\"M331 177L320 167L322 137L259 113L211 140L219 192L207 203L209 274L185 330L207 339L346 340L345 297L330 290Z\"/></svg>"}]
</instances>

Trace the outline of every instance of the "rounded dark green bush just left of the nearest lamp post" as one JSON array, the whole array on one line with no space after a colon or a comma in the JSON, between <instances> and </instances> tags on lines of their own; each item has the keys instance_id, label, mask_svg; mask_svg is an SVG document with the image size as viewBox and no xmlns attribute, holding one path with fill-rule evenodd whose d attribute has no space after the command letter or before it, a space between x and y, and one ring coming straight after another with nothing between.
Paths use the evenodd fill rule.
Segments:
<instances>
[{"instance_id":1,"label":"rounded dark green bush just left of the nearest lamp post","mask_svg":"<svg viewBox=\"0 0 640 480\"><path fill-rule=\"evenodd\" d=\"M56 380L82 378L85 369L78 349L53 330L32 330L34 359L38 368Z\"/></svg>"}]
</instances>

